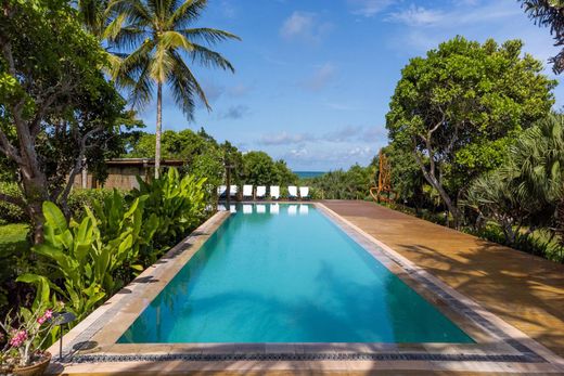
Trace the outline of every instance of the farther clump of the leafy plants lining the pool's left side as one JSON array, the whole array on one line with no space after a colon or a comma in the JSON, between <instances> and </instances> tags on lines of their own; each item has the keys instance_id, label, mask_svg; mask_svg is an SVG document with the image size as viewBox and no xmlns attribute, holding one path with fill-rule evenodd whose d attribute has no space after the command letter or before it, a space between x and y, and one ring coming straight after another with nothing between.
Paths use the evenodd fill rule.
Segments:
<instances>
[{"instance_id":1,"label":"farther clump of the leafy plants lining the pool's left side","mask_svg":"<svg viewBox=\"0 0 564 376\"><path fill-rule=\"evenodd\" d=\"M139 179L139 189L131 191L130 197L143 198L144 208L150 212L150 226L156 230L151 252L143 255L144 263L150 264L161 254L179 241L180 236L195 229L204 218L206 206L203 185L205 179L193 176L180 177L176 168L168 173L146 183ZM156 225L155 225L156 224Z\"/></svg>"}]
</instances>

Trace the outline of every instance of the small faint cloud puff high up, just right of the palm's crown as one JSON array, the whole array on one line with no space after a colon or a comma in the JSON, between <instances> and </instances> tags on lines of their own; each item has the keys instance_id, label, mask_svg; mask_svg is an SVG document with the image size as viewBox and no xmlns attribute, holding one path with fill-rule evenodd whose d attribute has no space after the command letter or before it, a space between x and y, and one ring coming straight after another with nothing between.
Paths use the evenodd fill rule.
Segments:
<instances>
[{"instance_id":1,"label":"small faint cloud puff high up, just right of the palm's crown","mask_svg":"<svg viewBox=\"0 0 564 376\"><path fill-rule=\"evenodd\" d=\"M331 29L332 24L322 22L318 14L295 11L282 24L280 35L286 40L318 43Z\"/></svg>"}]
</instances>

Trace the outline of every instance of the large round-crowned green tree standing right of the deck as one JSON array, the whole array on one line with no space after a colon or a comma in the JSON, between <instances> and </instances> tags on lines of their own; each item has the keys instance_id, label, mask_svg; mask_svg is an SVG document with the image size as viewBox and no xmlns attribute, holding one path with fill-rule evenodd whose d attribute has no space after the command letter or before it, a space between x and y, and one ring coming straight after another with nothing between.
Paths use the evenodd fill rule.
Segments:
<instances>
[{"instance_id":1,"label":"large round-crowned green tree standing right of the deck","mask_svg":"<svg viewBox=\"0 0 564 376\"><path fill-rule=\"evenodd\" d=\"M456 226L464 189L499 167L515 135L554 103L555 81L540 74L539 61L522 57L522 47L456 37L401 72L386 115L388 137L414 155Z\"/></svg>"}]
</instances>

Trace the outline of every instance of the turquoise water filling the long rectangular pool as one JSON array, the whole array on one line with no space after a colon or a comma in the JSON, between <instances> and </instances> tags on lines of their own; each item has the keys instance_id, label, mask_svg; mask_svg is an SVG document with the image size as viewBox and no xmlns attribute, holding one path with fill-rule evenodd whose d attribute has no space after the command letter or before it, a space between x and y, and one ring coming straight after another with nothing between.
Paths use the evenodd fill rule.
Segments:
<instances>
[{"instance_id":1,"label":"turquoise water filling the long rectangular pool","mask_svg":"<svg viewBox=\"0 0 564 376\"><path fill-rule=\"evenodd\" d=\"M238 207L119 338L473 342L311 205Z\"/></svg>"}]
</instances>

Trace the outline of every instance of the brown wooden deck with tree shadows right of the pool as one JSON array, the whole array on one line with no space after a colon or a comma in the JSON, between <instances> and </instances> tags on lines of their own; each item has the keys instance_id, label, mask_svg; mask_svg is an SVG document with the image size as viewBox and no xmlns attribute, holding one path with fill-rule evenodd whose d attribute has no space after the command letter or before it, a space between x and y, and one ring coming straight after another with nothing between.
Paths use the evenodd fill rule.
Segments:
<instances>
[{"instance_id":1,"label":"brown wooden deck with tree shadows right of the pool","mask_svg":"<svg viewBox=\"0 0 564 376\"><path fill-rule=\"evenodd\" d=\"M564 356L564 265L375 203L323 204Z\"/></svg>"}]
</instances>

